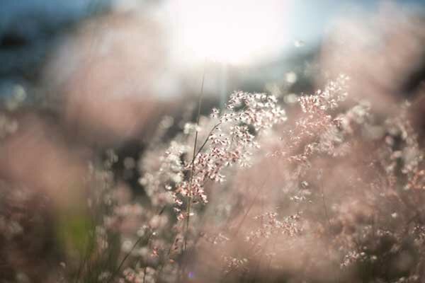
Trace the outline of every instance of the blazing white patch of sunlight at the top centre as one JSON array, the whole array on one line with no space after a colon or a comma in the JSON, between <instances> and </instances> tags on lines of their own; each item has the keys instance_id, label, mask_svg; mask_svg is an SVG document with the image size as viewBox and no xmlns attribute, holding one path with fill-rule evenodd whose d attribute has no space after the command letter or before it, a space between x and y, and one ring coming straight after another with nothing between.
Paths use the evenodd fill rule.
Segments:
<instances>
[{"instance_id":1,"label":"blazing white patch of sunlight at the top centre","mask_svg":"<svg viewBox=\"0 0 425 283\"><path fill-rule=\"evenodd\" d=\"M276 55L288 40L288 1L176 0L168 8L184 59L248 63Z\"/></svg>"}]
</instances>

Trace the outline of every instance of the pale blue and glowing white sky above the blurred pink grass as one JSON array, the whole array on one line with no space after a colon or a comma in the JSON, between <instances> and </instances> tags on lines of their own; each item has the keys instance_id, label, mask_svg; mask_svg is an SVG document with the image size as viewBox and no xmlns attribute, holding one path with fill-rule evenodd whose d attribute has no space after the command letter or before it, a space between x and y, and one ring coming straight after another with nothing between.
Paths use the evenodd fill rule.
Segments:
<instances>
[{"instance_id":1,"label":"pale blue and glowing white sky above the blurred pink grass","mask_svg":"<svg viewBox=\"0 0 425 283\"><path fill-rule=\"evenodd\" d=\"M394 1L402 8L425 8L425 0ZM332 21L341 13L373 13L382 1L371 0L0 0L0 43L4 34L26 33L30 44L25 52L1 49L1 74L10 65L35 62L50 40L45 27L78 22L98 7L111 10L156 11L159 21L171 32L169 48L184 69L205 57L228 64L273 62L283 50L317 45ZM156 8L152 9L152 6ZM149 7L149 8L147 8ZM149 9L149 10L148 10ZM25 20L25 21L23 21ZM39 26L39 28L38 28ZM17 28L18 27L18 28ZM41 42L41 43L40 43ZM28 51L27 51L28 50ZM19 57L19 59L16 59ZM186 58L187 57L187 58ZM17 69L17 68L15 68Z\"/></svg>"}]
</instances>

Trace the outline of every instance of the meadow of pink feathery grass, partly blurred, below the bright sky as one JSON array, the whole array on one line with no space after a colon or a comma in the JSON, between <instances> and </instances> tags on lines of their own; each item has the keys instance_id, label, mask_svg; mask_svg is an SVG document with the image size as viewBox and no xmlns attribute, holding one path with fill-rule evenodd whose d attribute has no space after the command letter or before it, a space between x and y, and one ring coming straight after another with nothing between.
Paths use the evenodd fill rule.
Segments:
<instances>
[{"instance_id":1,"label":"meadow of pink feathery grass, partly blurred, below the bright sky","mask_svg":"<svg viewBox=\"0 0 425 283\"><path fill-rule=\"evenodd\" d=\"M123 75L103 57L81 60L94 72L59 98L25 104L13 88L0 283L425 282L424 88L410 71L423 20L388 15L341 23L312 91L232 90L221 104L205 60L186 100L98 96Z\"/></svg>"}]
</instances>

